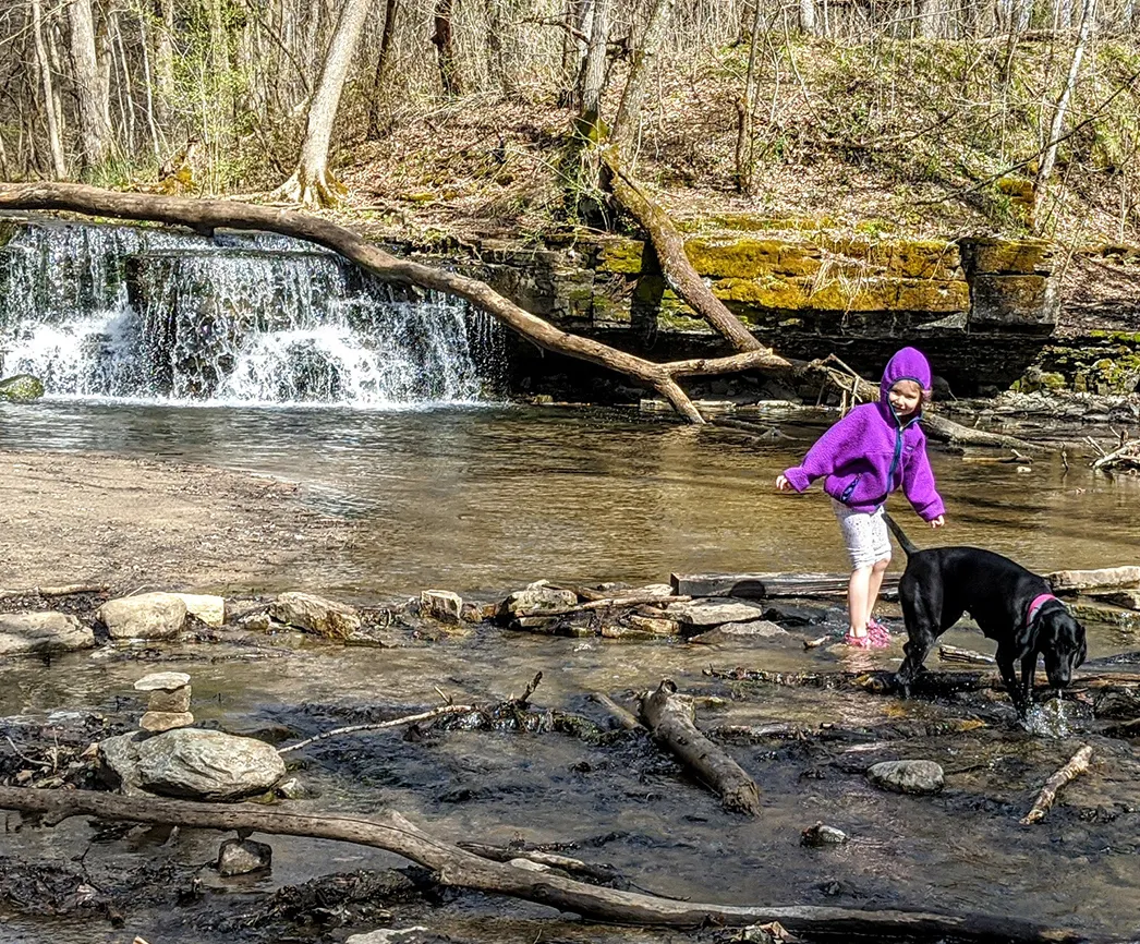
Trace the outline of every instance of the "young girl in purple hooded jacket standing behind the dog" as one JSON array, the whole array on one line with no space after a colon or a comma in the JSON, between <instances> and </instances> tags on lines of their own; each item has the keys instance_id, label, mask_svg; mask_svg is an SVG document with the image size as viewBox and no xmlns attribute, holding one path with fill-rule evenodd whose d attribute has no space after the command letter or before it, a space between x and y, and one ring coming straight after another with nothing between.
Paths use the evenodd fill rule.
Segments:
<instances>
[{"instance_id":1,"label":"young girl in purple hooded jacket standing behind the dog","mask_svg":"<svg viewBox=\"0 0 1140 944\"><path fill-rule=\"evenodd\" d=\"M871 616L890 563L890 539L882 520L887 496L902 486L919 518L931 528L945 523L926 437L919 429L922 404L929 400L930 365L914 348L903 348L882 372L879 402L855 407L820 437L803 464L776 478L781 491L803 491L826 475L823 490L831 496L852 560L848 645L878 649L890 644L890 634Z\"/></svg>"}]
</instances>

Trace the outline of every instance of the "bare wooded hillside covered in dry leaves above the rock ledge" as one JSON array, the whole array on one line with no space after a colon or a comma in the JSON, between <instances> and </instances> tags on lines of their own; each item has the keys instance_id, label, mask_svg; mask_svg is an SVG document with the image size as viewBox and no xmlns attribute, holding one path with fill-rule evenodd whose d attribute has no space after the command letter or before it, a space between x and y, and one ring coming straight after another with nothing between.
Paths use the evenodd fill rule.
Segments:
<instances>
[{"instance_id":1,"label":"bare wooded hillside covered in dry leaves above the rock ledge","mask_svg":"<svg viewBox=\"0 0 1140 944\"><path fill-rule=\"evenodd\" d=\"M625 152L676 217L1140 242L1140 0L9 0L0 178L540 241L662 7Z\"/></svg>"}]
</instances>

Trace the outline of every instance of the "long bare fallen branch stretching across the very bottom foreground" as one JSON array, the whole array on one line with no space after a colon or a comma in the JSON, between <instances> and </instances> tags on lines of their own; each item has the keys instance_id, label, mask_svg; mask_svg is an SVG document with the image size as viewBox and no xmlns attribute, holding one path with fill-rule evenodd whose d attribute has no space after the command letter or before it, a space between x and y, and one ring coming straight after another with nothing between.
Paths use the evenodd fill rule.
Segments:
<instances>
[{"instance_id":1,"label":"long bare fallen branch stretching across the very bottom foreground","mask_svg":"<svg viewBox=\"0 0 1140 944\"><path fill-rule=\"evenodd\" d=\"M70 816L163 823L197 829L241 830L278 836L335 839L385 849L431 869L440 882L488 894L507 895L570 911L598 921L682 928L779 921L796 933L865 935L878 939L952 937L1057 944L1089 938L1017 918L937 914L923 911L860 911L845 908L766 908L682 902L636 892L601 888L551 872L492 862L438 839L397 812L376 819L298 814L246 805L221 806L187 800L136 799L88 790L28 790L0 787L0 809L43 814L55 824Z\"/></svg>"}]
</instances>

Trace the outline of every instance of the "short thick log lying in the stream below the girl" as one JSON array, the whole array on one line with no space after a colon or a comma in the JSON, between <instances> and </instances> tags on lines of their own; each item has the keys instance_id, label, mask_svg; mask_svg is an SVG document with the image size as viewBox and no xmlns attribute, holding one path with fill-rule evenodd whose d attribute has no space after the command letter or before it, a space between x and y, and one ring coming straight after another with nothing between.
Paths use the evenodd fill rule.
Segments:
<instances>
[{"instance_id":1,"label":"short thick log lying in the stream below the girl","mask_svg":"<svg viewBox=\"0 0 1140 944\"><path fill-rule=\"evenodd\" d=\"M725 808L750 816L759 814L760 791L756 782L698 730L692 699L678 695L670 679L662 679L657 691L642 699L641 710L653 739L719 794Z\"/></svg>"}]
</instances>

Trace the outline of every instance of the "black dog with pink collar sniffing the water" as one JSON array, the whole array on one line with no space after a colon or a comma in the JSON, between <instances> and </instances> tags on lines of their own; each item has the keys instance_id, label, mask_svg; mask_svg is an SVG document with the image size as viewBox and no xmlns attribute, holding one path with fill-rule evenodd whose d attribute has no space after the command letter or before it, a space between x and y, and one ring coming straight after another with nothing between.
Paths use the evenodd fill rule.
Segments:
<instances>
[{"instance_id":1,"label":"black dog with pink collar sniffing the water","mask_svg":"<svg viewBox=\"0 0 1140 944\"><path fill-rule=\"evenodd\" d=\"M1039 653L1045 657L1049 684L1054 689L1068 685L1073 669L1088 653L1084 627L1052 595L1044 577L978 547L920 551L889 514L883 518L906 552L906 570L898 583L910 637L897 676L904 693L922 672L938 636L967 611L988 638L997 641L994 658L1018 717L1025 718L1029 708ZM1013 667L1018 660L1020 682Z\"/></svg>"}]
</instances>

